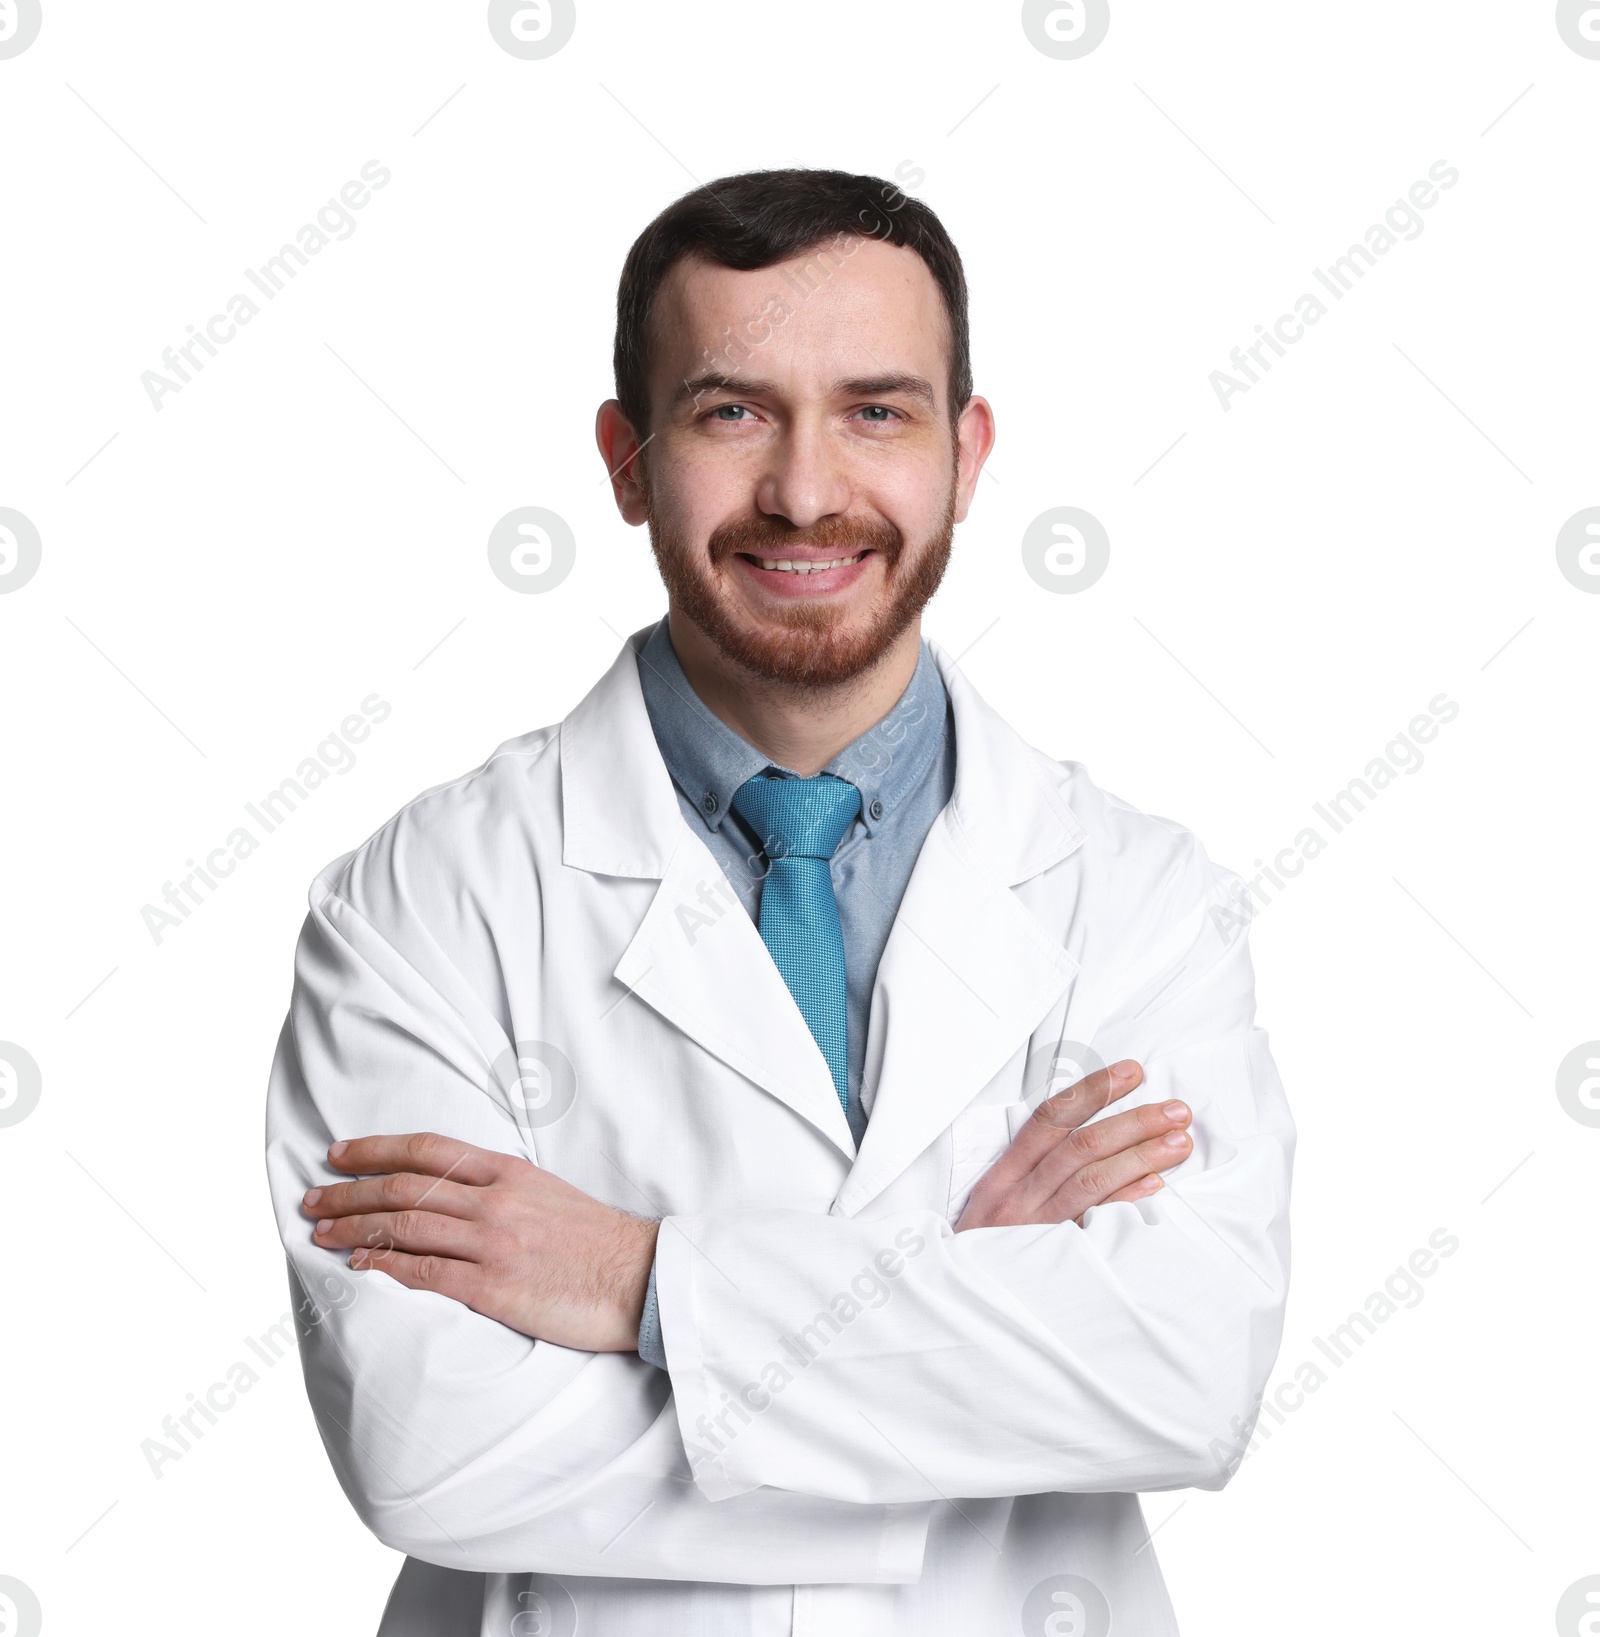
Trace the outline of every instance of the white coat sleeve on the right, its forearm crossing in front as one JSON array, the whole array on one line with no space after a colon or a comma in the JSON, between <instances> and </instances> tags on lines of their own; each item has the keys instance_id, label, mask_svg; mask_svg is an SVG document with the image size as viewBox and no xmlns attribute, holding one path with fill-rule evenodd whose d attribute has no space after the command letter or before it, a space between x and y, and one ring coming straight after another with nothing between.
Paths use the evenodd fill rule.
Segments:
<instances>
[{"instance_id":1,"label":"white coat sleeve on the right, its forearm crossing in front","mask_svg":"<svg viewBox=\"0 0 1600 1637\"><path fill-rule=\"evenodd\" d=\"M919 1208L667 1218L662 1326L707 1496L1223 1486L1282 1333L1294 1125L1236 877L1210 868L1177 941L1163 928L1171 961L1107 997L1091 1043L1145 1067L1110 1112L1194 1112L1194 1151L1153 1198L963 1233Z\"/></svg>"}]
</instances>

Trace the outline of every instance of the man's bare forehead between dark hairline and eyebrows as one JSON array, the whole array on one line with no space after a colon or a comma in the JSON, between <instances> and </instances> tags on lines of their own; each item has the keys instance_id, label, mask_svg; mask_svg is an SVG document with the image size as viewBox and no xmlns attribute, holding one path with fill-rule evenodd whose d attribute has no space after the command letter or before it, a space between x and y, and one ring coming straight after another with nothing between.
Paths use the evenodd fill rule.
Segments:
<instances>
[{"instance_id":1,"label":"man's bare forehead between dark hairline and eyebrows","mask_svg":"<svg viewBox=\"0 0 1600 1637\"><path fill-rule=\"evenodd\" d=\"M793 390L884 368L925 375L945 396L950 332L938 285L915 250L879 239L827 239L750 272L685 257L662 282L652 331L657 403L704 370L707 352Z\"/></svg>"}]
</instances>

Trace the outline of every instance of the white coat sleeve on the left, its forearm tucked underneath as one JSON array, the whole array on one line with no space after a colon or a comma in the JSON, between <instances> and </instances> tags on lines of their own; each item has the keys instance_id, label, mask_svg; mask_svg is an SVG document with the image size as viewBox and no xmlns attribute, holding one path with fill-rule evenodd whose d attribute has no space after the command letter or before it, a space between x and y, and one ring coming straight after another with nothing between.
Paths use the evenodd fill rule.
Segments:
<instances>
[{"instance_id":1,"label":"white coat sleeve on the left, its forearm tucked underneath","mask_svg":"<svg viewBox=\"0 0 1600 1637\"><path fill-rule=\"evenodd\" d=\"M712 1506L662 1370L534 1341L313 1244L300 1198L341 1180L326 1164L336 1136L442 1131L529 1156L493 1094L488 1026L465 989L441 992L447 964L432 976L313 887L270 1076L267 1170L316 1424L364 1522L462 1570L915 1580L925 1506L778 1490Z\"/></svg>"}]
</instances>

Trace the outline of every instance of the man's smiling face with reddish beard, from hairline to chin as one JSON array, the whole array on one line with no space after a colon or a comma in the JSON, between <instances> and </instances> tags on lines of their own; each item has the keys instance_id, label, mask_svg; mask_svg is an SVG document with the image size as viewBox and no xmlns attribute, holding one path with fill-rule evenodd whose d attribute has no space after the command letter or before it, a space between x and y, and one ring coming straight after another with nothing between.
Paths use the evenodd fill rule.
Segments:
<instances>
[{"instance_id":1,"label":"man's smiling face with reddish beard, from hairline to chin","mask_svg":"<svg viewBox=\"0 0 1600 1637\"><path fill-rule=\"evenodd\" d=\"M981 399L950 424L932 273L876 239L686 260L652 319L637 499L675 619L768 681L860 676L937 591L991 440Z\"/></svg>"}]
</instances>

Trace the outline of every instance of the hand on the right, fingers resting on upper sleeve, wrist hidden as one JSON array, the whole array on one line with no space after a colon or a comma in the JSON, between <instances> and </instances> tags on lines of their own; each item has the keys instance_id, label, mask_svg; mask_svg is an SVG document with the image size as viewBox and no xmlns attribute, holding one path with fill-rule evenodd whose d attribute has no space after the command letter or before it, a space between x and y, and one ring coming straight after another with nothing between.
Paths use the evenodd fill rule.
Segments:
<instances>
[{"instance_id":1,"label":"hand on the right, fingers resting on upper sleeve, wrist hidden","mask_svg":"<svg viewBox=\"0 0 1600 1637\"><path fill-rule=\"evenodd\" d=\"M1184 1130L1191 1118L1184 1103L1145 1103L1084 1125L1143 1079L1145 1071L1128 1058L1045 1098L978 1179L955 1231L1019 1223L1082 1226L1091 1205L1143 1200L1161 1188L1155 1172L1187 1159L1194 1148Z\"/></svg>"}]
</instances>

